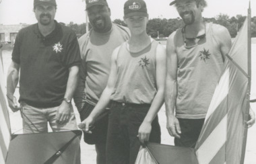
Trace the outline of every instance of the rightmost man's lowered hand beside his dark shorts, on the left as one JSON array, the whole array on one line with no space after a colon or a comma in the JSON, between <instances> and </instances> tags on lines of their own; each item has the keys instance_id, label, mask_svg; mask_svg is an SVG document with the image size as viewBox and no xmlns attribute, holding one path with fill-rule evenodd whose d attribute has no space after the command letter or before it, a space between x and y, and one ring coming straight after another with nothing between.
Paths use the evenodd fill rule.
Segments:
<instances>
[{"instance_id":1,"label":"rightmost man's lowered hand beside his dark shorts, on the left","mask_svg":"<svg viewBox=\"0 0 256 164\"><path fill-rule=\"evenodd\" d=\"M167 116L166 128L170 136L174 136L175 138L181 138L181 127L179 124L179 120L174 115Z\"/></svg>"}]
</instances>

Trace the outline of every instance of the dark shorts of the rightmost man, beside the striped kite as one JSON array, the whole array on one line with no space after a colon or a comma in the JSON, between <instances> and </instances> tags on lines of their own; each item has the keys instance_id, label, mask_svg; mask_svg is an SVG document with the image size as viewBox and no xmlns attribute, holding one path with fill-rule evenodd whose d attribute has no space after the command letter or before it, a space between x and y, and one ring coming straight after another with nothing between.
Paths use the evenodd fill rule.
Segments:
<instances>
[{"instance_id":1,"label":"dark shorts of the rightmost man, beside the striped kite","mask_svg":"<svg viewBox=\"0 0 256 164\"><path fill-rule=\"evenodd\" d=\"M175 146L195 148L205 119L178 118L178 120L181 126L181 138L174 138Z\"/></svg>"}]
</instances>

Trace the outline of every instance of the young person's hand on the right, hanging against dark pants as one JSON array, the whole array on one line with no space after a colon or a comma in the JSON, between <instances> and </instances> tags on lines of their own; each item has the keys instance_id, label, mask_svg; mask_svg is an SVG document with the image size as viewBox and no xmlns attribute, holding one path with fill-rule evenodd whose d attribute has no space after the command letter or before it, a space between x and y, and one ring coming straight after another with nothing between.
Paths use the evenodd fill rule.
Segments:
<instances>
[{"instance_id":1,"label":"young person's hand on the right, hanging against dark pants","mask_svg":"<svg viewBox=\"0 0 256 164\"><path fill-rule=\"evenodd\" d=\"M141 126L139 126L138 137L141 143L148 142L150 140L150 132L152 130L152 125L150 122L143 121Z\"/></svg>"}]
</instances>

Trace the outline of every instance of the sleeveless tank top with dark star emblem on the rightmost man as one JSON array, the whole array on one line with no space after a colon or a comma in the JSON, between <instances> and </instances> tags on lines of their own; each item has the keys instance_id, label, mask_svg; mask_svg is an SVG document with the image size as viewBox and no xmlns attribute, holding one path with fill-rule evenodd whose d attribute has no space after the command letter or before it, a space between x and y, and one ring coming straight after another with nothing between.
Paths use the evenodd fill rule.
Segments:
<instances>
[{"instance_id":1,"label":"sleeveless tank top with dark star emblem on the rightmost man","mask_svg":"<svg viewBox=\"0 0 256 164\"><path fill-rule=\"evenodd\" d=\"M215 26L215 27L213 27ZM224 56L208 24L206 36L194 46L185 46L182 30L177 30L174 43L178 58L177 118L205 118L224 65Z\"/></svg>"}]
</instances>

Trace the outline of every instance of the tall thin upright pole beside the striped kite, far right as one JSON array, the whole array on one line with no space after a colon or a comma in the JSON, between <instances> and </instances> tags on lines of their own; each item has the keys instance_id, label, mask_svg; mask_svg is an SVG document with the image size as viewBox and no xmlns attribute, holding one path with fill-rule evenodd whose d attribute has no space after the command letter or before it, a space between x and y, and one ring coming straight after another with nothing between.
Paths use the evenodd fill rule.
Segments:
<instances>
[{"instance_id":1,"label":"tall thin upright pole beside the striped kite, far right","mask_svg":"<svg viewBox=\"0 0 256 164\"><path fill-rule=\"evenodd\" d=\"M249 120L249 112L250 112L250 93L251 93L251 1L249 1L249 9L248 9L248 15L247 15L247 23L248 23L248 40L247 40L247 46L248 46L248 52L247 52L247 62L248 62L248 87L247 87L247 108L245 110L245 132L244 132L244 140L243 140L243 149L242 149L242 155L241 155L241 164L245 161L245 151L246 151L246 144L247 144L247 120Z\"/></svg>"}]
</instances>

